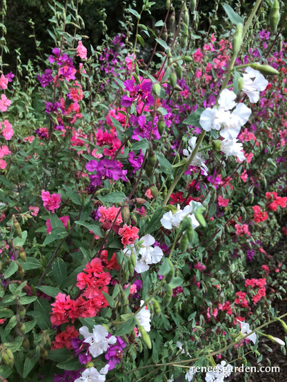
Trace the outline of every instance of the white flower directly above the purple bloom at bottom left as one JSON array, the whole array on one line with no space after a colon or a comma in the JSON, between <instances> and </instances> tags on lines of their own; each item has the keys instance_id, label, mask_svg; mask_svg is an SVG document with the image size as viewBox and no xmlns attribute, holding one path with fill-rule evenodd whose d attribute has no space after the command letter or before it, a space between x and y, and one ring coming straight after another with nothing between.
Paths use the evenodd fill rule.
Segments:
<instances>
[{"instance_id":1,"label":"white flower directly above the purple bloom at bottom left","mask_svg":"<svg viewBox=\"0 0 287 382\"><path fill-rule=\"evenodd\" d=\"M92 333L89 332L86 326L82 326L79 329L80 334L85 338L83 342L88 343L89 352L92 357L98 357L98 355L106 352L111 343L116 343L115 336L108 337L108 330L104 326L95 325L92 329Z\"/></svg>"}]
</instances>

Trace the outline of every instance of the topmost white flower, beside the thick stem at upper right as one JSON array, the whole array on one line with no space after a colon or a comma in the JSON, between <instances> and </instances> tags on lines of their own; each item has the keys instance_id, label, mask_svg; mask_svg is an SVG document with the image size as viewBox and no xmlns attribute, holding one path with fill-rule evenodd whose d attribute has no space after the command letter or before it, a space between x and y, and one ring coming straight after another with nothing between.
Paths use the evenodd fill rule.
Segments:
<instances>
[{"instance_id":1,"label":"topmost white flower, beside the thick stem at upper right","mask_svg":"<svg viewBox=\"0 0 287 382\"><path fill-rule=\"evenodd\" d=\"M258 102L259 92L263 92L263 90L266 89L268 81L258 70L250 66L246 67L245 71L246 74L243 75L242 92L248 96L250 102Z\"/></svg>"}]
</instances>

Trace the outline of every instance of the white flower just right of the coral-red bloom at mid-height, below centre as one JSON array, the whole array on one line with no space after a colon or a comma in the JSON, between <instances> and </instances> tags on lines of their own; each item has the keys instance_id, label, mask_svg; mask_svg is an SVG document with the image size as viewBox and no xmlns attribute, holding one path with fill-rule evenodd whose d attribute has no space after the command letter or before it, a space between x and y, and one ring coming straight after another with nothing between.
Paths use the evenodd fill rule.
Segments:
<instances>
[{"instance_id":1,"label":"white flower just right of the coral-red bloom at mid-height, below centre","mask_svg":"<svg viewBox=\"0 0 287 382\"><path fill-rule=\"evenodd\" d=\"M159 246L152 247L152 244L155 244L155 237L152 237L152 235L141 237L139 242L141 241L143 241L141 248L139 249L141 259L137 259L137 264L135 266L137 273L145 272L150 268L149 264L157 264L161 261L161 257L164 256L164 253Z\"/></svg>"}]
</instances>

